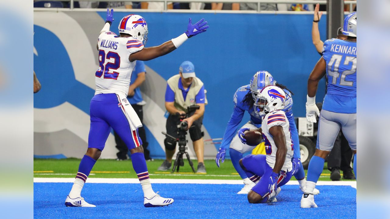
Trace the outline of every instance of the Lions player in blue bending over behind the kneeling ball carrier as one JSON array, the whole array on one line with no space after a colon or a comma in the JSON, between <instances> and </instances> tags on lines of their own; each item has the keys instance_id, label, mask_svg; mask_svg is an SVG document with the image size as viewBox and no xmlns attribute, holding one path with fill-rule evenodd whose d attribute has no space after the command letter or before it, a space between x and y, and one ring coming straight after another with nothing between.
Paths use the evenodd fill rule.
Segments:
<instances>
[{"instance_id":1,"label":"Lions player in blue bending over behind the kneeling ball carrier","mask_svg":"<svg viewBox=\"0 0 390 219\"><path fill-rule=\"evenodd\" d=\"M294 176L298 180L302 192L305 190L305 171L303 170L303 166L300 161L301 154L299 148L299 136L293 116L292 94L284 85L277 83L268 71L258 71L250 80L250 84L238 88L234 94L233 113L227 124L225 134L223 135L223 140L215 160L217 166L219 167L220 159L222 159L222 162L224 162L226 149L229 148L232 164L244 181L244 187L241 189L241 191L238 192L238 194L248 194L250 189L252 189L252 187L255 185L254 182L252 182L247 177L245 171L241 169L239 160L243 157L245 152L251 151L255 148L246 145L245 139L243 137L245 136L245 132L249 129L258 129L261 127L262 118L259 114L255 113L253 104L256 99L256 95L259 94L260 91L268 85L277 85L278 87L282 88L286 94L285 107L282 110L285 112L286 117L289 120L292 140L294 143L294 155L292 162L295 162L299 165L299 168L297 168ZM243 125L243 127L241 127L238 132L236 132L245 111L248 111L250 114L250 121ZM316 190L315 193L318 194L319 191Z\"/></svg>"}]
</instances>

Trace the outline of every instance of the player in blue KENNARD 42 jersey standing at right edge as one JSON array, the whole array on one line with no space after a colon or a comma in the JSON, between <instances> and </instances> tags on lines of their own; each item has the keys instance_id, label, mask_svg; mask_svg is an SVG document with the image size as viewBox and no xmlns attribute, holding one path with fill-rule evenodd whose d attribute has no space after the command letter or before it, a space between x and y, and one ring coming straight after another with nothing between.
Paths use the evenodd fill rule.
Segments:
<instances>
[{"instance_id":1,"label":"player in blue KENNARD 42 jersey standing at right edge","mask_svg":"<svg viewBox=\"0 0 390 219\"><path fill-rule=\"evenodd\" d=\"M330 39L324 42L323 56L307 82L306 118L309 122L316 122L317 114L319 122L316 152L309 162L301 208L317 207L313 189L340 128L354 154L353 171L356 176L356 12L344 19L342 33L347 35L346 40ZM328 91L320 114L316 106L316 92L318 82L325 74Z\"/></svg>"}]
</instances>

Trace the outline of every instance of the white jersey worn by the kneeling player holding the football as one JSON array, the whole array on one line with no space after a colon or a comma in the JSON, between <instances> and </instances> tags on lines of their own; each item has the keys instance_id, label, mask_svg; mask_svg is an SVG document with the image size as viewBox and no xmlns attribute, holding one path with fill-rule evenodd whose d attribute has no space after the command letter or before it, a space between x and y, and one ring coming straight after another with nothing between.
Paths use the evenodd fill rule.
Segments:
<instances>
[{"instance_id":1,"label":"white jersey worn by the kneeling player holding the football","mask_svg":"<svg viewBox=\"0 0 390 219\"><path fill-rule=\"evenodd\" d=\"M291 141L289 120L286 118L286 114L282 110L275 110L270 113L267 113L267 115L264 116L263 121L261 123L262 136L264 139L266 154L267 154L266 161L271 168L275 166L276 151L278 148L275 145L275 141L273 141L272 135L269 134L269 129L277 125L283 127L284 135L286 138L286 146L287 146L286 159L284 161L282 170L291 171L293 168L293 164L291 163L291 158L294 155L293 141Z\"/></svg>"}]
</instances>

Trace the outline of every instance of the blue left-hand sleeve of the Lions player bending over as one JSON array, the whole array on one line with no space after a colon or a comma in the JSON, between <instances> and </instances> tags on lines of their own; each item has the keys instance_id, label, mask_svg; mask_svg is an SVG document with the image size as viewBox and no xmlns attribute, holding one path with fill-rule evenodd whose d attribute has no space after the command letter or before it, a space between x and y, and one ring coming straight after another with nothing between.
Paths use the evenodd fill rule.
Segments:
<instances>
[{"instance_id":1,"label":"blue left-hand sleeve of the Lions player bending over","mask_svg":"<svg viewBox=\"0 0 390 219\"><path fill-rule=\"evenodd\" d=\"M225 130L225 134L223 135L223 140L221 143L221 148L229 148L230 142L232 142L234 136L237 132L237 127L241 120L244 117L245 110L239 108L238 106L234 106L234 110L232 115L230 116L229 122L227 123L227 127Z\"/></svg>"}]
</instances>

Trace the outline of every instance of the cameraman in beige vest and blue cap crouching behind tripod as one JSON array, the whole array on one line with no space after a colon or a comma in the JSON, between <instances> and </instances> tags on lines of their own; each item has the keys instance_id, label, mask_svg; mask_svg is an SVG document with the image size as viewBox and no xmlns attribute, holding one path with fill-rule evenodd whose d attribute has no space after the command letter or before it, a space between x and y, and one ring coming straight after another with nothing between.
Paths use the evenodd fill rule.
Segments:
<instances>
[{"instance_id":1,"label":"cameraman in beige vest and blue cap crouching behind tripod","mask_svg":"<svg viewBox=\"0 0 390 219\"><path fill-rule=\"evenodd\" d=\"M197 173L206 173L203 161L203 133L200 130L202 127L204 105L207 104L203 82L195 76L195 68L190 61L183 62L179 67L179 74L172 76L167 82L167 90L165 92L165 108L169 112L166 124L167 134L178 138L177 125L180 123L180 119L185 117L187 108L192 105L200 106L199 109L192 113L192 115L188 115L188 118L184 118L183 121L188 122L191 140L198 158ZM171 168L176 143L175 140L165 138L166 160L158 170L165 171Z\"/></svg>"}]
</instances>

